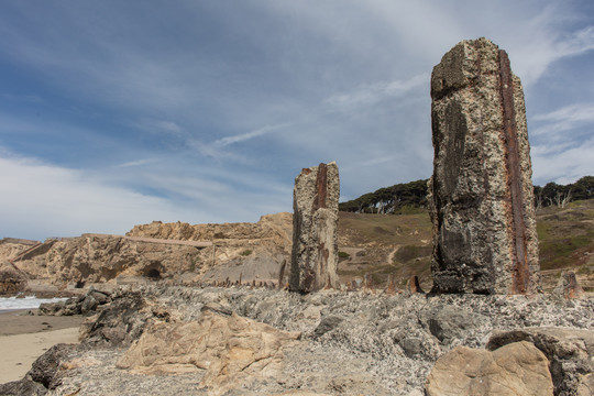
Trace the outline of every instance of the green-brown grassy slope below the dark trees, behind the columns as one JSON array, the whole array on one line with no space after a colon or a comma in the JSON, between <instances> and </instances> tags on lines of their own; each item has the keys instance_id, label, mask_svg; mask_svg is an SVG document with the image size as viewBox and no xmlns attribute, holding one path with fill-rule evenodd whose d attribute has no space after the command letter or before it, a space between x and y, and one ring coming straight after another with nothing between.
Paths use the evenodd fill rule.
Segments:
<instances>
[{"instance_id":1,"label":"green-brown grassy slope below the dark trees, behind the columns","mask_svg":"<svg viewBox=\"0 0 594 396\"><path fill-rule=\"evenodd\" d=\"M544 208L537 213L540 265L544 289L554 287L563 268L594 288L594 200L571 202L566 208ZM431 286L431 223L425 211L414 215L358 215L341 212L339 220L339 274L342 282L372 274L383 284L394 274L404 285L418 275Z\"/></svg>"}]
</instances>

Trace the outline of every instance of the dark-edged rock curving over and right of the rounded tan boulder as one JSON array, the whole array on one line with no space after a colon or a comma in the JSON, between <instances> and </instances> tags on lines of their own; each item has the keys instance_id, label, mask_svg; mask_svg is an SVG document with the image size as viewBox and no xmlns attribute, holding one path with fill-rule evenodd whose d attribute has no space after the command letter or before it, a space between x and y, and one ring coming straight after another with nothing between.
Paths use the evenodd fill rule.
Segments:
<instances>
[{"instance_id":1,"label":"dark-edged rock curving over and right of the rounded tan boulder","mask_svg":"<svg viewBox=\"0 0 594 396\"><path fill-rule=\"evenodd\" d=\"M594 395L593 330L542 327L496 331L486 348L496 350L518 341L531 342L551 362L556 395Z\"/></svg>"}]
</instances>

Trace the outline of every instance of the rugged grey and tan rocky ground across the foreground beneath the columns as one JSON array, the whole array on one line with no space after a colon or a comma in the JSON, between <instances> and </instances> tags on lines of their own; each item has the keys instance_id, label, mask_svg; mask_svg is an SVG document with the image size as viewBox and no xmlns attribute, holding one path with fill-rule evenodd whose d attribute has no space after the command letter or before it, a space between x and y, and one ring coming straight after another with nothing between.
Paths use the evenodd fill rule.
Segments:
<instances>
[{"instance_id":1,"label":"rugged grey and tan rocky ground across the foreground beneath the columns","mask_svg":"<svg viewBox=\"0 0 594 396\"><path fill-rule=\"evenodd\" d=\"M240 371L228 367L212 373L204 362L184 361L184 355L191 355L188 350L175 350L179 339L190 337L184 332L187 326L198 329L207 319L215 326L215 320L231 318L245 320L241 324L245 329L267 326L271 338L277 332L298 336L286 344L273 342L278 343L276 350L260 360L267 363L258 370L250 369L263 349L257 342L241 344L242 356L251 351L253 361ZM388 296L328 290L302 296L249 287L121 288L88 311L79 345L52 349L21 382L0 386L0 394L145 395L150 389L160 395L422 395L436 361L452 349L531 340L550 360L551 371L557 371L554 394L578 395L580 384L592 382L593 328L592 296L568 300L554 295ZM150 343L154 338L140 340L146 334L177 337L168 342L170 348L160 346L165 363L157 367L147 363L151 356L144 356L123 369L121 362L131 359L134 345L158 346ZM230 342L251 340L245 334L228 337L211 342L229 348ZM199 344L188 342L191 348ZM564 354L551 352L568 342ZM218 359L226 364L233 360ZM47 366L44 361L55 364ZM40 375L45 380L40 382ZM19 393L22 389L29 393Z\"/></svg>"}]
</instances>

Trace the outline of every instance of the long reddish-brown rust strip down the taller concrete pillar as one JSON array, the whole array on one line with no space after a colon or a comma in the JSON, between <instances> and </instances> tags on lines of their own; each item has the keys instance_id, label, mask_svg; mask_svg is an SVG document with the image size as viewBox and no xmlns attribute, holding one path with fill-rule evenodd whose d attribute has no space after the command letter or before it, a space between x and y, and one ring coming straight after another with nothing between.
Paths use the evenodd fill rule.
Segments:
<instances>
[{"instance_id":1,"label":"long reddish-brown rust strip down the taller concrete pillar","mask_svg":"<svg viewBox=\"0 0 594 396\"><path fill-rule=\"evenodd\" d=\"M507 53L499 50L501 95L503 105L504 136L507 162L507 176L509 185L509 210L513 222L510 230L514 239L513 285L514 293L525 294L530 287L530 268L528 265L526 246L526 224L524 197L521 194L521 170L518 147L518 133L516 127L516 111L514 107L514 82Z\"/></svg>"}]
</instances>

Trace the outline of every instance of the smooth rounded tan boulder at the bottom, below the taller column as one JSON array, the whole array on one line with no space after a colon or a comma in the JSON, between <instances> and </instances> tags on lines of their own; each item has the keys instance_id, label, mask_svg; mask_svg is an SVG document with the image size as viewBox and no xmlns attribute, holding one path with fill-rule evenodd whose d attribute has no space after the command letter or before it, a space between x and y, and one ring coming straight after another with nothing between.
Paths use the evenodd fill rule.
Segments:
<instances>
[{"instance_id":1,"label":"smooth rounded tan boulder at the bottom, below the taller column","mask_svg":"<svg viewBox=\"0 0 594 396\"><path fill-rule=\"evenodd\" d=\"M428 396L553 395L549 361L520 341L493 352L457 346L438 359L427 377Z\"/></svg>"}]
</instances>

